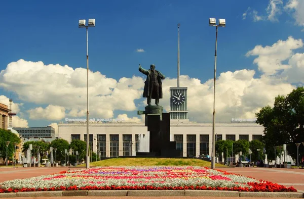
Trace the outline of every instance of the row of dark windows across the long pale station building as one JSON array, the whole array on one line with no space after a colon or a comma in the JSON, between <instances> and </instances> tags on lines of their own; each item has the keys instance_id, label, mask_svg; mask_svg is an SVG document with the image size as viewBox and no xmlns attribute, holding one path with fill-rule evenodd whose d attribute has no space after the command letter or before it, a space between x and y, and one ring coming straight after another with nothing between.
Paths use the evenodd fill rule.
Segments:
<instances>
[{"instance_id":1,"label":"row of dark windows across the long pale station building","mask_svg":"<svg viewBox=\"0 0 304 199\"><path fill-rule=\"evenodd\" d=\"M262 135L252 135L252 139L260 139ZM78 139L80 140L80 134L71 134L71 140ZM89 135L89 145L91 150L93 150L93 140L97 138L97 154L100 157L106 157L105 150L105 142L106 135L105 134L97 134L95 138L93 138L93 134ZM235 141L236 135L226 135L226 140ZM196 135L187 135L186 136L186 156L187 157L195 157L196 156ZM216 141L221 140L222 135L216 135ZM239 135L239 139L245 139L249 141L249 135ZM87 141L87 135L84 135L84 140ZM174 141L176 142L176 149L180 150L181 157L183 156L183 135L174 135ZM135 150L138 152L139 150L139 135L135 135ZM209 135L200 135L200 153L199 155L206 156L209 154ZM132 135L123 135L123 156L131 156L132 155ZM119 156L119 135L118 134L110 134L110 157Z\"/></svg>"}]
</instances>

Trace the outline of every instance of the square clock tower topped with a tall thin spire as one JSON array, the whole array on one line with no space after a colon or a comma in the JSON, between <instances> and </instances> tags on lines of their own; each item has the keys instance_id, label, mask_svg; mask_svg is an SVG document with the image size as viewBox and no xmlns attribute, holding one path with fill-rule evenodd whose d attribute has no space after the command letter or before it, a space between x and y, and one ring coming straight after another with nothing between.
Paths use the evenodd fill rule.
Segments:
<instances>
[{"instance_id":1,"label":"square clock tower topped with a tall thin spire","mask_svg":"<svg viewBox=\"0 0 304 199\"><path fill-rule=\"evenodd\" d=\"M170 87L170 119L171 122L189 122L187 110L187 87L179 86L179 26L177 49L177 87Z\"/></svg>"}]
</instances>

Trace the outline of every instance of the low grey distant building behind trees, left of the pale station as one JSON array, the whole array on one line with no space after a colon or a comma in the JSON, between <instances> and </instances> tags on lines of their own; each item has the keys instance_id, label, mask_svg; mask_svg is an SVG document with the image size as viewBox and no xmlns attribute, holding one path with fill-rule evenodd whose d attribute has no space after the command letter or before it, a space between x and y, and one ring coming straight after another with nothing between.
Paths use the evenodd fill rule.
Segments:
<instances>
[{"instance_id":1,"label":"low grey distant building behind trees, left of the pale station","mask_svg":"<svg viewBox=\"0 0 304 199\"><path fill-rule=\"evenodd\" d=\"M55 129L51 126L47 127L29 127L29 128L13 128L22 138L49 137L55 138Z\"/></svg>"}]
</instances>

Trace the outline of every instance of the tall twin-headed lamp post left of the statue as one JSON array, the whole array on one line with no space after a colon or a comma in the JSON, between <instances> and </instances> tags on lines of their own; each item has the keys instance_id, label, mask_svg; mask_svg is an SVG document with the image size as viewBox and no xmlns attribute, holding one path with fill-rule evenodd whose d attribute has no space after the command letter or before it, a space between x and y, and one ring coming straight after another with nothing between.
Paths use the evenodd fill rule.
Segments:
<instances>
[{"instance_id":1,"label":"tall twin-headed lamp post left of the statue","mask_svg":"<svg viewBox=\"0 0 304 199\"><path fill-rule=\"evenodd\" d=\"M87 32L87 155L86 168L90 168L90 154L89 154L89 47L88 47L88 28L95 27L95 19L89 19L86 26L86 20L79 20L79 28L86 28Z\"/></svg>"}]
</instances>

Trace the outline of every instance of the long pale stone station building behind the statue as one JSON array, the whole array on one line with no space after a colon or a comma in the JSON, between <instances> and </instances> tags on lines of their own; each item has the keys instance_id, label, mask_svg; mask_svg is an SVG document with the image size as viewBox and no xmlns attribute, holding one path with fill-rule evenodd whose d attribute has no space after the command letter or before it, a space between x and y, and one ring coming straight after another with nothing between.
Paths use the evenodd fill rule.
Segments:
<instances>
[{"instance_id":1,"label":"long pale stone station building behind the statue","mask_svg":"<svg viewBox=\"0 0 304 199\"><path fill-rule=\"evenodd\" d=\"M136 156L136 152L148 152L149 132L144 123L91 123L89 143L100 157ZM263 126L254 122L230 122L215 124L216 140L248 141L263 135ZM58 125L58 137L87 141L86 123ZM212 123L171 123L170 141L176 141L181 157L210 155Z\"/></svg>"}]
</instances>

